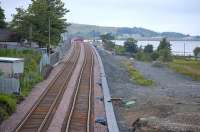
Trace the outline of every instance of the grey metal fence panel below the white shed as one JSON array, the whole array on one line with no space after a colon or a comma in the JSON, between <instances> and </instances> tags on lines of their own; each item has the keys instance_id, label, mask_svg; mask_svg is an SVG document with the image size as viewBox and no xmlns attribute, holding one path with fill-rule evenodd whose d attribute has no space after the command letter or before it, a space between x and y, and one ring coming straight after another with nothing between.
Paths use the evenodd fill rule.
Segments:
<instances>
[{"instance_id":1,"label":"grey metal fence panel below the white shed","mask_svg":"<svg viewBox=\"0 0 200 132\"><path fill-rule=\"evenodd\" d=\"M0 78L0 92L20 93L20 82L15 78Z\"/></svg>"}]
</instances>

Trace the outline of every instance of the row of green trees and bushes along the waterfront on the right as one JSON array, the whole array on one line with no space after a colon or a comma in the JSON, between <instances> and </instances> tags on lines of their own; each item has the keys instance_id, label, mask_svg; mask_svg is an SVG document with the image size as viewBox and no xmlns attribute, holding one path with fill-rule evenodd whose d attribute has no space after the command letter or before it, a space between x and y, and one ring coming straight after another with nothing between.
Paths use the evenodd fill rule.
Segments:
<instances>
[{"instance_id":1,"label":"row of green trees and bushes along the waterfront on the right","mask_svg":"<svg viewBox=\"0 0 200 132\"><path fill-rule=\"evenodd\" d=\"M103 46L106 50L113 51L117 54L126 54L133 56L141 61L155 61L170 62L173 60L171 44L167 38L163 38L156 50L153 49L153 45L148 44L144 47L138 47L137 40L134 38L128 38L123 46L115 45L112 41L114 36L110 33L101 35ZM194 56L200 56L200 47L194 49Z\"/></svg>"}]
</instances>

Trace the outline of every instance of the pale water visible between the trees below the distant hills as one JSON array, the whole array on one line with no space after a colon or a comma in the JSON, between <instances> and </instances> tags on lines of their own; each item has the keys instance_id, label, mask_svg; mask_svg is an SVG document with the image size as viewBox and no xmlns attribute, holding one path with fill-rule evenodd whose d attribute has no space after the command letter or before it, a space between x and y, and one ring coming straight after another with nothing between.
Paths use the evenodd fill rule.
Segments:
<instances>
[{"instance_id":1,"label":"pale water visible between the trees below the distant hills","mask_svg":"<svg viewBox=\"0 0 200 132\"><path fill-rule=\"evenodd\" d=\"M115 44L117 45L124 45L124 40L115 40ZM138 47L146 46L148 44L153 45L154 50L157 49L160 41L138 41ZM196 47L200 47L200 41L170 41L172 53L175 55L193 55L193 50Z\"/></svg>"}]
</instances>

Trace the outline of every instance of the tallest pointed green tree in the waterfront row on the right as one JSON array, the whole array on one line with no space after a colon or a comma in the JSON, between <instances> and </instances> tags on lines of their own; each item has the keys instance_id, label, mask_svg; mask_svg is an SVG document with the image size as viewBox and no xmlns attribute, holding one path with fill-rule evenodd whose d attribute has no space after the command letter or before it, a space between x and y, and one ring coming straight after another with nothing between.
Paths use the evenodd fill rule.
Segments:
<instances>
[{"instance_id":1,"label":"tallest pointed green tree in the waterfront row on the right","mask_svg":"<svg viewBox=\"0 0 200 132\"><path fill-rule=\"evenodd\" d=\"M172 60L171 44L166 38L160 41L157 51L161 61L168 62Z\"/></svg>"}]
</instances>

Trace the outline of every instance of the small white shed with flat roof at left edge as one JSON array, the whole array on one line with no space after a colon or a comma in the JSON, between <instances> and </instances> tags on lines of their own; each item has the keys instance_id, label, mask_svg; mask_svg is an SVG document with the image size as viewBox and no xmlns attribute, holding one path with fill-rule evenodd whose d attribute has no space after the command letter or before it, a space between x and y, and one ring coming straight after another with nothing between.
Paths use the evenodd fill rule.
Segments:
<instances>
[{"instance_id":1,"label":"small white shed with flat roof at left edge","mask_svg":"<svg viewBox=\"0 0 200 132\"><path fill-rule=\"evenodd\" d=\"M24 72L24 59L0 57L0 70L4 73L4 76L18 76Z\"/></svg>"}]
</instances>

